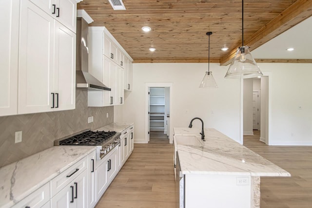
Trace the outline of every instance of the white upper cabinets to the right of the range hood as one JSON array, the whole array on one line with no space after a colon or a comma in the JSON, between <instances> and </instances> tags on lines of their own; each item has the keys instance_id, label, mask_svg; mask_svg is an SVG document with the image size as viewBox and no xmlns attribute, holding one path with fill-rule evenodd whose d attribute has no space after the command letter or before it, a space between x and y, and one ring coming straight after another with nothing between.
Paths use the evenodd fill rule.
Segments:
<instances>
[{"instance_id":1,"label":"white upper cabinets to the right of the range hood","mask_svg":"<svg viewBox=\"0 0 312 208\"><path fill-rule=\"evenodd\" d=\"M100 107L124 103L125 57L127 56L121 50L121 46L118 46L115 38L105 27L89 27L89 72L111 88L111 91L89 91L88 106ZM127 57L127 60L132 61L130 57Z\"/></svg>"}]
</instances>

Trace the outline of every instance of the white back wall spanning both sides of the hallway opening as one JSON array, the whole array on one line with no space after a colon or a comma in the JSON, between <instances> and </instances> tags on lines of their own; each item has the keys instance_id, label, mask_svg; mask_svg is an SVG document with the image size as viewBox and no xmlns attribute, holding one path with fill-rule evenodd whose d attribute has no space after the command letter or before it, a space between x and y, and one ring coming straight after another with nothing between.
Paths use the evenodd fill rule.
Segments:
<instances>
[{"instance_id":1,"label":"white back wall spanning both sides of the hallway opening","mask_svg":"<svg viewBox=\"0 0 312 208\"><path fill-rule=\"evenodd\" d=\"M268 89L269 144L312 145L312 64L258 65L269 74L271 83ZM210 66L218 89L198 88L207 69L204 63L133 64L133 91L125 92L125 104L120 111L122 121L135 122L135 142L145 142L146 82L173 83L173 110L170 112L173 127L187 127L190 120L198 116L204 120L205 127L215 128L239 141L240 82L223 78L228 66ZM199 122L195 121L194 125L200 128Z\"/></svg>"}]
</instances>

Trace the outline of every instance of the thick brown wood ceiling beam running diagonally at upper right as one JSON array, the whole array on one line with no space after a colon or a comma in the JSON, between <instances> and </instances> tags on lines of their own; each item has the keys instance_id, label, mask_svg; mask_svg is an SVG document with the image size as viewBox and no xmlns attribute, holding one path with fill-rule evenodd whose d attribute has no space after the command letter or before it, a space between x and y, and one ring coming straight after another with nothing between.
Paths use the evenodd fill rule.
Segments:
<instances>
[{"instance_id":1,"label":"thick brown wood ceiling beam running diagonally at upper right","mask_svg":"<svg viewBox=\"0 0 312 208\"><path fill-rule=\"evenodd\" d=\"M244 45L250 46L250 51L282 34L304 19L312 16L312 0L297 0L290 7L281 12L276 18L264 25L254 35L244 40ZM236 50L241 45L232 49L226 56L220 58L220 65L226 66L232 62Z\"/></svg>"}]
</instances>

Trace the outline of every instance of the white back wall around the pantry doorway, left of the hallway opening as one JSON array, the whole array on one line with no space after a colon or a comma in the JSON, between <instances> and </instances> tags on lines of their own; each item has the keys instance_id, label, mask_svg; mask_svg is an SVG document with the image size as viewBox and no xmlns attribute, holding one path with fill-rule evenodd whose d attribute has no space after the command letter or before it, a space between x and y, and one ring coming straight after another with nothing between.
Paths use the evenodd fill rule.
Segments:
<instances>
[{"instance_id":1,"label":"white back wall around the pantry doorway, left of the hallway opening","mask_svg":"<svg viewBox=\"0 0 312 208\"><path fill-rule=\"evenodd\" d=\"M201 89L199 84L207 71L205 63L135 63L133 88L125 96L123 122L135 123L135 142L145 140L145 84L173 83L170 126L188 127L194 117L204 121L205 128L215 128L232 139L240 138L240 81L225 79L227 66L210 64L217 89ZM194 127L201 129L199 121ZM173 132L170 132L172 138Z\"/></svg>"}]
</instances>

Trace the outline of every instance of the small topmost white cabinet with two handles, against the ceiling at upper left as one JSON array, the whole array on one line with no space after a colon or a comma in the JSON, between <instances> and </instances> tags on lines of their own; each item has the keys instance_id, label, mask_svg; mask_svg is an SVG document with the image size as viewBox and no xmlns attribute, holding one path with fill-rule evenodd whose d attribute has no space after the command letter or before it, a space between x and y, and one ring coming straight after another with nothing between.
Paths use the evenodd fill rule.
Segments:
<instances>
[{"instance_id":1,"label":"small topmost white cabinet with two handles, against the ceiling at upper left","mask_svg":"<svg viewBox=\"0 0 312 208\"><path fill-rule=\"evenodd\" d=\"M76 0L30 0L76 34Z\"/></svg>"}]
</instances>

